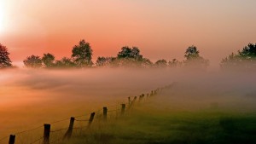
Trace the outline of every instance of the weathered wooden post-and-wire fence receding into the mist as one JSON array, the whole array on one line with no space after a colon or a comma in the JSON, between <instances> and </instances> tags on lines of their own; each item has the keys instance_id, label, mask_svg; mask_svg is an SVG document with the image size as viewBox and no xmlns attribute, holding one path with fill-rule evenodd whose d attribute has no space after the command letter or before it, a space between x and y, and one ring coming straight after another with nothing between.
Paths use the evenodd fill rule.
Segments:
<instances>
[{"instance_id":1,"label":"weathered wooden post-and-wire fence receding into the mist","mask_svg":"<svg viewBox=\"0 0 256 144\"><path fill-rule=\"evenodd\" d=\"M96 112L87 113L87 114L84 114L84 115L79 115L79 116L75 116L75 117L71 117L71 118L64 118L64 119L61 119L61 120L56 120L56 121L51 122L49 124L44 124L42 126L38 126L36 128L30 129L30 130L24 130L24 131L17 132L17 133L15 133L15 135L20 135L22 133L26 133L26 132L29 132L29 131L32 131L32 130L38 130L39 128L44 127L44 136L38 138L36 141L32 141L31 144L33 144L35 142L38 142L40 140L43 140L44 144L50 144L50 143L55 143L57 141L61 141L61 140L64 140L64 139L69 139L71 137L72 133L73 133L73 130L88 128L90 126L90 124L92 124L94 119L102 119L103 121L107 121L108 112L116 112L117 113L116 117L118 117L118 111L120 111L120 116L122 116L126 111L128 111L135 104L135 102L137 101L137 97L138 97L137 102L142 102L143 100L145 101L145 99L144 99L145 97L148 98L150 96L157 95L157 93L160 92L160 90L169 89L169 88L172 87L172 85L173 84L170 84L170 85L166 85L165 87L162 87L162 88L159 88L159 89L151 90L146 95L142 94L142 95L139 95L139 96L129 96L128 97L128 102L124 102L124 103L121 103L121 104L112 105L112 106L108 106L108 107L103 107L102 109L99 109ZM116 109L108 110L109 107L116 107ZM121 108L118 108L118 107L121 107ZM125 108L126 108L126 110L125 110ZM95 117L95 114L96 114L96 117ZM81 118L81 117L89 116L89 115L90 115L89 119L76 119L76 118ZM70 119L70 124L69 124L68 128L63 128L63 129L59 129L59 130L50 130L50 125L51 124L56 124L56 123L60 123L60 122L63 122L63 121L67 121L68 119ZM75 121L77 121L77 122L89 122L89 123L86 126L73 127L73 124L74 124ZM56 140L51 141L51 142L49 141L49 135L51 133L60 132L60 131L63 131L63 130L67 130L67 132L65 133L65 135L63 137L59 138L57 141ZM0 139L0 142L9 137L9 144L15 144L15 135L4 136L2 139Z\"/></svg>"}]
</instances>

